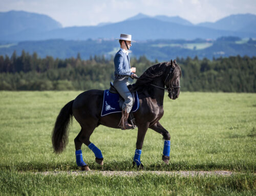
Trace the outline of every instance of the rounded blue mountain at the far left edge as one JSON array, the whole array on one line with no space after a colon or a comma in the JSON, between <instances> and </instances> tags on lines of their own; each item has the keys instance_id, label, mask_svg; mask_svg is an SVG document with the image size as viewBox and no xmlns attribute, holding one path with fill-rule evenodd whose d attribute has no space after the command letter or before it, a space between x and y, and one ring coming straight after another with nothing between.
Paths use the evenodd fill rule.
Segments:
<instances>
[{"instance_id":1,"label":"rounded blue mountain at the far left edge","mask_svg":"<svg viewBox=\"0 0 256 196\"><path fill-rule=\"evenodd\" d=\"M0 36L62 28L60 23L47 15L24 11L0 12L0 27Z\"/></svg>"}]
</instances>

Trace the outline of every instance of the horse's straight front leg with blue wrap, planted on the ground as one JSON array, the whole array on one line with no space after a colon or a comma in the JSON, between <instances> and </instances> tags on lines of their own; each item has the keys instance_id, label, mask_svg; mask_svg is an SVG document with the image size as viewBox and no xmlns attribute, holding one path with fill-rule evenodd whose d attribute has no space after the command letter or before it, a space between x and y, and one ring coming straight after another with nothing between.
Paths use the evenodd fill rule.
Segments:
<instances>
[{"instance_id":1,"label":"horse's straight front leg with blue wrap, planted on the ground","mask_svg":"<svg viewBox=\"0 0 256 196\"><path fill-rule=\"evenodd\" d=\"M138 169L143 169L143 164L140 161L140 156L141 156L141 149L143 146L143 141L146 135L146 131L148 128L149 123L145 123L145 124L140 124L138 125L138 135L137 135L137 142L136 142L136 150L135 150L135 155L133 158L133 164L137 165Z\"/></svg>"}]
</instances>

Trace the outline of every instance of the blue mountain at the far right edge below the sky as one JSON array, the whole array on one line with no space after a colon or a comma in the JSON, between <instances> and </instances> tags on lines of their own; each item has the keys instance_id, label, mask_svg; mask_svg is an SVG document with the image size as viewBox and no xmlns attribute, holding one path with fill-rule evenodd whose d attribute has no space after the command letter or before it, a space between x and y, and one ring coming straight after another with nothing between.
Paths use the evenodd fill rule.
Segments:
<instances>
[{"instance_id":1,"label":"blue mountain at the far right edge below the sky","mask_svg":"<svg viewBox=\"0 0 256 196\"><path fill-rule=\"evenodd\" d=\"M200 23L198 26L227 31L256 32L256 15L236 14L224 17L215 23Z\"/></svg>"}]
</instances>

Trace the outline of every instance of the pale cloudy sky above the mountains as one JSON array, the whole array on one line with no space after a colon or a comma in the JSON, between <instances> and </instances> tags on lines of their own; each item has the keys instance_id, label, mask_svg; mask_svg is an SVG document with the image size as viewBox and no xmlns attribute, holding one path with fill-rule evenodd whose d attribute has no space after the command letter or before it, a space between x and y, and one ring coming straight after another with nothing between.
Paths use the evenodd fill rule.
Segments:
<instances>
[{"instance_id":1,"label":"pale cloudy sky above the mountains","mask_svg":"<svg viewBox=\"0 0 256 196\"><path fill-rule=\"evenodd\" d=\"M180 16L198 24L231 14L256 14L256 0L1 0L0 12L10 10L46 14L63 27L116 23L138 13Z\"/></svg>"}]
</instances>

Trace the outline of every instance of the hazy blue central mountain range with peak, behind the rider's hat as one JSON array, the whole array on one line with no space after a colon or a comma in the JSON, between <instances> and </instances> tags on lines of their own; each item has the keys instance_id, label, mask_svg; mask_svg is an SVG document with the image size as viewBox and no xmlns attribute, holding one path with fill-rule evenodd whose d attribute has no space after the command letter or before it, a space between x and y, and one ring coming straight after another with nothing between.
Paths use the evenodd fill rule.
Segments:
<instances>
[{"instance_id":1,"label":"hazy blue central mountain range with peak, behind the rider's hat","mask_svg":"<svg viewBox=\"0 0 256 196\"><path fill-rule=\"evenodd\" d=\"M217 38L221 36L256 37L256 33L215 30L206 27L186 26L161 21L155 18L125 20L101 27L70 27L52 30L41 39L79 39L109 38L119 36L120 32L132 34L135 40L148 39L195 39Z\"/></svg>"}]
</instances>

